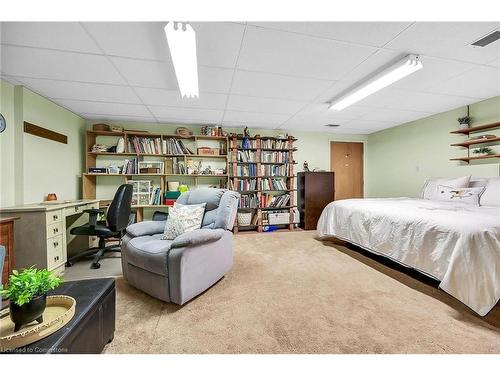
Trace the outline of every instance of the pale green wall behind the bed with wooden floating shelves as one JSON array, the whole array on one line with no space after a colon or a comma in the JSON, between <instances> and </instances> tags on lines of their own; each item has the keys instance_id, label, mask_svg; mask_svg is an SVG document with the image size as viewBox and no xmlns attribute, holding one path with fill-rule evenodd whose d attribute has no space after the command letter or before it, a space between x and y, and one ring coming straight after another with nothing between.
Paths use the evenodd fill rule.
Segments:
<instances>
[{"instance_id":1,"label":"pale green wall behind the bed with wooden floating shelves","mask_svg":"<svg viewBox=\"0 0 500 375\"><path fill-rule=\"evenodd\" d=\"M368 197L417 197L426 178L492 177L499 175L498 159L470 165L449 159L466 156L467 150L450 144L466 139L450 134L466 107L382 130L368 136L365 174ZM500 121L500 96L470 105L472 126ZM500 134L498 130L490 134ZM500 153L500 146L494 146Z\"/></svg>"}]
</instances>

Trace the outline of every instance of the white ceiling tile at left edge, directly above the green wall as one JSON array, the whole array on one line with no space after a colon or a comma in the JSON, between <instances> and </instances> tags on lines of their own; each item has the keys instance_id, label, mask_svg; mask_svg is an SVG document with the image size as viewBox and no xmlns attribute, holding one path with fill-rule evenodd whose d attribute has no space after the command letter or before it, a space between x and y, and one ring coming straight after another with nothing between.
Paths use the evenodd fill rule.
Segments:
<instances>
[{"instance_id":1,"label":"white ceiling tile at left edge, directly above the green wall","mask_svg":"<svg viewBox=\"0 0 500 375\"><path fill-rule=\"evenodd\" d=\"M104 56L2 46L2 72L12 76L125 84Z\"/></svg>"}]
</instances>

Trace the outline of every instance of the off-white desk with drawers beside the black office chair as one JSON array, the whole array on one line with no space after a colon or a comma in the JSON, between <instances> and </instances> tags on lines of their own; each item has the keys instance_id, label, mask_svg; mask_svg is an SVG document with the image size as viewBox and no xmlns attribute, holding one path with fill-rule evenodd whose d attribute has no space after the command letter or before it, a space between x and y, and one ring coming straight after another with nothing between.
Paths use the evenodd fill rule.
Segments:
<instances>
[{"instance_id":1,"label":"off-white desk with drawers beside the black office chair","mask_svg":"<svg viewBox=\"0 0 500 375\"><path fill-rule=\"evenodd\" d=\"M99 200L83 199L60 204L35 203L1 208L0 217L13 214L19 217L14 230L14 268L34 265L62 274L70 247L82 251L93 246L96 241L95 238L83 236L77 239L69 233L72 227L87 222L88 215L81 216L84 210L91 208L99 208Z\"/></svg>"}]
</instances>

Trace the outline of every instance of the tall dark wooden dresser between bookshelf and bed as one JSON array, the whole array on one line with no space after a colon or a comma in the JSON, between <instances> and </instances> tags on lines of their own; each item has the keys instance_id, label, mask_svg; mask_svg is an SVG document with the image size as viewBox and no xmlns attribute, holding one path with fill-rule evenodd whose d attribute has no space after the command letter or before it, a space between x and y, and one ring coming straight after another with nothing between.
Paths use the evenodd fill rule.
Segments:
<instances>
[{"instance_id":1,"label":"tall dark wooden dresser between bookshelf and bed","mask_svg":"<svg viewBox=\"0 0 500 375\"><path fill-rule=\"evenodd\" d=\"M297 174L297 203L300 227L316 229L323 209L335 197L333 172L299 172Z\"/></svg>"}]
</instances>

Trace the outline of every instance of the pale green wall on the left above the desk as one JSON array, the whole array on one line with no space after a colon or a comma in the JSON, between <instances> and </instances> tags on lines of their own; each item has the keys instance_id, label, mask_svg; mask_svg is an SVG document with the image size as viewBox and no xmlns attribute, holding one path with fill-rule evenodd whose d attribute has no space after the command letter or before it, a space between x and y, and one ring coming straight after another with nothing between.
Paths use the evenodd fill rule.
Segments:
<instances>
[{"instance_id":1,"label":"pale green wall on the left above the desk","mask_svg":"<svg viewBox=\"0 0 500 375\"><path fill-rule=\"evenodd\" d=\"M85 120L22 86L1 83L2 113L9 116L0 135L1 206L41 202L51 192L80 198ZM24 121L66 135L68 144L24 133Z\"/></svg>"}]
</instances>

